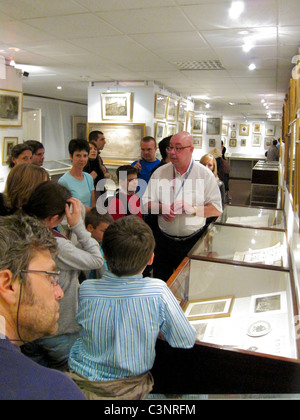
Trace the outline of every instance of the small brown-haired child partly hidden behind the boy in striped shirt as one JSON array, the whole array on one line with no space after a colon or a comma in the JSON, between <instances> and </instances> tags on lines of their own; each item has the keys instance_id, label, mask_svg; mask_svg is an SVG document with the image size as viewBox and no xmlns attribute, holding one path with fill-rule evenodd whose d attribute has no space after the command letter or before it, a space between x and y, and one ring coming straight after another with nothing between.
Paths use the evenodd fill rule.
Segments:
<instances>
[{"instance_id":1,"label":"small brown-haired child partly hidden behind the boy in striped shirt","mask_svg":"<svg viewBox=\"0 0 300 420\"><path fill-rule=\"evenodd\" d=\"M103 235L108 226L113 222L114 219L110 214L99 214L96 207L92 208L92 210L90 210L85 216L85 227L87 228L87 231L92 235L92 238L96 239L96 241L99 243L102 256L104 256L102 250ZM104 268L105 270L108 270L106 261L104 261ZM96 271L92 270L91 274L89 275L89 279L95 278L97 278Z\"/></svg>"}]
</instances>

